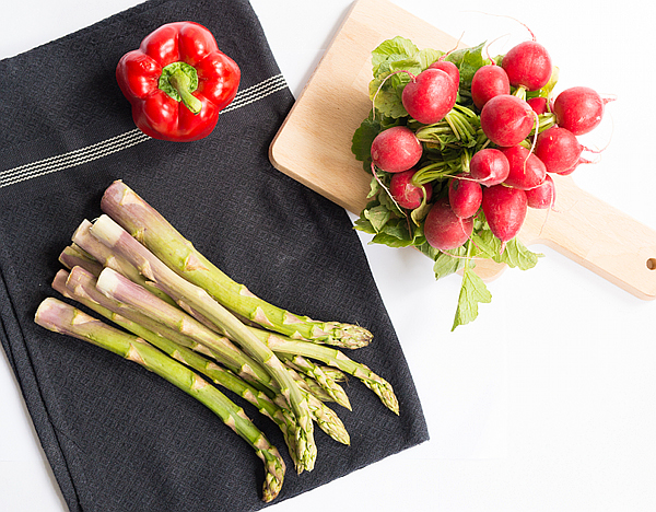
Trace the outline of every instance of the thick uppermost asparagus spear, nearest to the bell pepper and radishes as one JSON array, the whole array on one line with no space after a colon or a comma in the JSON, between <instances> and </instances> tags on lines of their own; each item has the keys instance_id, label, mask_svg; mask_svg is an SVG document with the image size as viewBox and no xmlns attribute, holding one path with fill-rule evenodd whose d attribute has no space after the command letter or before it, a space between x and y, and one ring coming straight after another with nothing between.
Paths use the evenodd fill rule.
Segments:
<instances>
[{"instance_id":1,"label":"thick uppermost asparagus spear, nearest to the bell pepper and radishes","mask_svg":"<svg viewBox=\"0 0 656 512\"><path fill-rule=\"evenodd\" d=\"M342 348L367 345L372 334L356 325L316 322L277 307L233 281L173 228L164 217L122 182L115 182L101 201L103 210L167 266L207 290L235 314L288 335Z\"/></svg>"}]
</instances>

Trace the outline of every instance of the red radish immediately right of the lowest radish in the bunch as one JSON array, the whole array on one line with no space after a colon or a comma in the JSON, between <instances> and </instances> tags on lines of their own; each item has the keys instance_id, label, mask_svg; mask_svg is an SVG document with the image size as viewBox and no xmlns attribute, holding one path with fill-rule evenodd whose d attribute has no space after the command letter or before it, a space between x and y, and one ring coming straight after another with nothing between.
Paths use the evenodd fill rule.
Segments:
<instances>
[{"instance_id":1,"label":"red radish immediately right of the lowest radish in the bunch","mask_svg":"<svg viewBox=\"0 0 656 512\"><path fill-rule=\"evenodd\" d=\"M513 238L522 229L528 199L518 188L494 185L483 190L483 213L490 230L502 242Z\"/></svg>"}]
</instances>

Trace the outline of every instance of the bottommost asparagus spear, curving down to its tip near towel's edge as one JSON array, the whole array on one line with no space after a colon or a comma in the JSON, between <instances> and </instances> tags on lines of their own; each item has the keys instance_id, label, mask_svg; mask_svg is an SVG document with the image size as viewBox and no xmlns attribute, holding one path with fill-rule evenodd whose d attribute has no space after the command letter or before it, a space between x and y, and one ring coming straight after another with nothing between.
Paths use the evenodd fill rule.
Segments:
<instances>
[{"instance_id":1,"label":"bottommost asparagus spear, curving down to its tip near towel's edge","mask_svg":"<svg viewBox=\"0 0 656 512\"><path fill-rule=\"evenodd\" d=\"M250 444L265 463L262 500L269 502L278 496L284 478L284 461L278 450L253 424L241 407L202 377L145 340L110 327L57 299L48 298L42 302L35 322L49 330L90 341L134 361L206 405Z\"/></svg>"}]
</instances>

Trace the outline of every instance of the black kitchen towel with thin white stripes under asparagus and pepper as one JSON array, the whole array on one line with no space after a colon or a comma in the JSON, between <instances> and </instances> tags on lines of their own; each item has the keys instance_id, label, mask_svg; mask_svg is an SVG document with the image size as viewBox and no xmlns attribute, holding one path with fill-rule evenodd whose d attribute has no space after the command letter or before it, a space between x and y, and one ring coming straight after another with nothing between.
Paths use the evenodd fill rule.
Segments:
<instances>
[{"instance_id":1,"label":"black kitchen towel with thin white stripes under asparagus and pepper","mask_svg":"<svg viewBox=\"0 0 656 512\"><path fill-rule=\"evenodd\" d=\"M134 128L116 63L160 25L186 20L207 26L238 63L239 92L208 138L150 139ZM141 366L33 322L39 302L56 295L59 253L83 219L101 213L101 196L115 179L256 294L374 333L370 347L349 354L390 381L400 416L350 380L353 411L335 410L351 445L317 429L313 472L296 475L278 428L239 402L288 462L277 501L427 439L348 214L269 163L269 143L293 97L246 0L142 3L1 60L0 90L0 338L71 511L263 507L260 461L208 409Z\"/></svg>"}]
</instances>

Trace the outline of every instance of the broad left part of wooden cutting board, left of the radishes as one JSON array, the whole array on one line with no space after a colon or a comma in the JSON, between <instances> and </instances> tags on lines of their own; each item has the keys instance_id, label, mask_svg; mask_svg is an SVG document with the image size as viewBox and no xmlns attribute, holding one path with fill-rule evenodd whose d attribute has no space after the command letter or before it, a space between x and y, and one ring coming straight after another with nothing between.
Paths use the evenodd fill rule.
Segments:
<instances>
[{"instance_id":1,"label":"broad left part of wooden cutting board, left of the radishes","mask_svg":"<svg viewBox=\"0 0 656 512\"><path fill-rule=\"evenodd\" d=\"M353 213L366 205L371 175L351 138L372 104L372 50L400 35L419 47L453 48L456 39L386 0L353 4L270 148L285 174Z\"/></svg>"}]
</instances>

